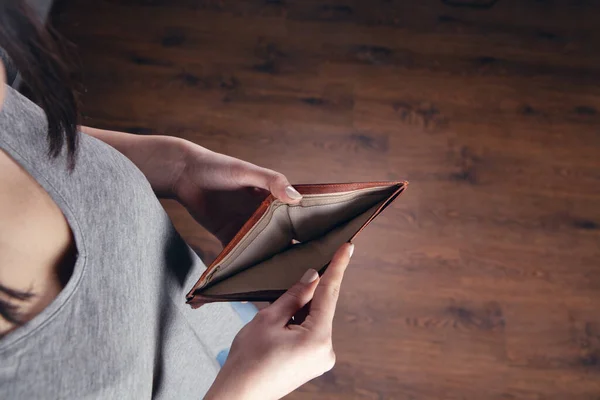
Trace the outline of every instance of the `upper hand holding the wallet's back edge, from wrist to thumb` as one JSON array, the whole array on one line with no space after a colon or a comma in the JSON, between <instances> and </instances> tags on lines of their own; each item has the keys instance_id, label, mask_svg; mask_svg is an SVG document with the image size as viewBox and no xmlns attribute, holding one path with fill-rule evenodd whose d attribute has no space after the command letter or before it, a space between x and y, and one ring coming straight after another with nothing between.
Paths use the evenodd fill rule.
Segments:
<instances>
[{"instance_id":1,"label":"upper hand holding the wallet's back edge, from wrist to thumb","mask_svg":"<svg viewBox=\"0 0 600 400\"><path fill-rule=\"evenodd\" d=\"M187 142L185 166L173 186L175 198L226 245L271 193L294 204L300 194L287 178L237 158Z\"/></svg>"}]
</instances>

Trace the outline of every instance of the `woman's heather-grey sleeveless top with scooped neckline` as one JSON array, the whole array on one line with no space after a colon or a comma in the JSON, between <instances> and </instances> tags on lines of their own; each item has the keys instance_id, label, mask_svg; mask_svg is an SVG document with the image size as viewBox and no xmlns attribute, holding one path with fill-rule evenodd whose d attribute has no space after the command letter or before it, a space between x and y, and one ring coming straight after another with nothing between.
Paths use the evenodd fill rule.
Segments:
<instances>
[{"instance_id":1,"label":"woman's heather-grey sleeveless top with scooped neckline","mask_svg":"<svg viewBox=\"0 0 600 400\"><path fill-rule=\"evenodd\" d=\"M43 111L7 87L0 147L61 208L78 256L58 297L0 339L0 398L200 399L248 318L230 304L185 304L201 260L142 172L104 142L80 139L69 174L66 151L46 156Z\"/></svg>"}]
</instances>

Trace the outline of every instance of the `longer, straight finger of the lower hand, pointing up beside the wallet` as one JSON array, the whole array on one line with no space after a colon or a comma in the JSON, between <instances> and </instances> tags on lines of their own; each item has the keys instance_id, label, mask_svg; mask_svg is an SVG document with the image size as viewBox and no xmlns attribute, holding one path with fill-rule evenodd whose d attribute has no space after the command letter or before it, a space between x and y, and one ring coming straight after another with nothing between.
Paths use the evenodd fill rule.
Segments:
<instances>
[{"instance_id":1,"label":"longer, straight finger of the lower hand, pointing up beside the wallet","mask_svg":"<svg viewBox=\"0 0 600 400\"><path fill-rule=\"evenodd\" d=\"M317 325L331 326L344 272L354 251L352 243L343 244L321 276L310 307L310 320Z\"/></svg>"}]
</instances>

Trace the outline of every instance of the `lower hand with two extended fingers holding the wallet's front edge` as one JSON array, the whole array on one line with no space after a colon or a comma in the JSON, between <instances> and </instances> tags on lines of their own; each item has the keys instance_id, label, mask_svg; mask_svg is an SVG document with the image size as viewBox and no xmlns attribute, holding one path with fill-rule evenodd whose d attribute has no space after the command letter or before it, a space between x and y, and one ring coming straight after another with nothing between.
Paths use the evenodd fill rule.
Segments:
<instances>
[{"instance_id":1,"label":"lower hand with two extended fingers holding the wallet's front edge","mask_svg":"<svg viewBox=\"0 0 600 400\"><path fill-rule=\"evenodd\" d=\"M205 400L280 399L333 368L333 316L353 250L353 244L344 244L321 278L308 270L300 282L258 312L236 336ZM308 314L301 320L309 302Z\"/></svg>"}]
</instances>

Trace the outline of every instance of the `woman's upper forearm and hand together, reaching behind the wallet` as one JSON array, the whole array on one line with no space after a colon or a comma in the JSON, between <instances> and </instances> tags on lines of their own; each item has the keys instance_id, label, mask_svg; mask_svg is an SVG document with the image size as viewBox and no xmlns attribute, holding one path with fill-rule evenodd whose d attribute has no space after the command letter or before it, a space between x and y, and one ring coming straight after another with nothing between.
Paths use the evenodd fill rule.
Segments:
<instances>
[{"instance_id":1,"label":"woman's upper forearm and hand together, reaching behind the wallet","mask_svg":"<svg viewBox=\"0 0 600 400\"><path fill-rule=\"evenodd\" d=\"M81 127L129 158L158 197L175 198L224 245L270 193L293 204L300 194L279 172L215 153L188 140Z\"/></svg>"}]
</instances>

